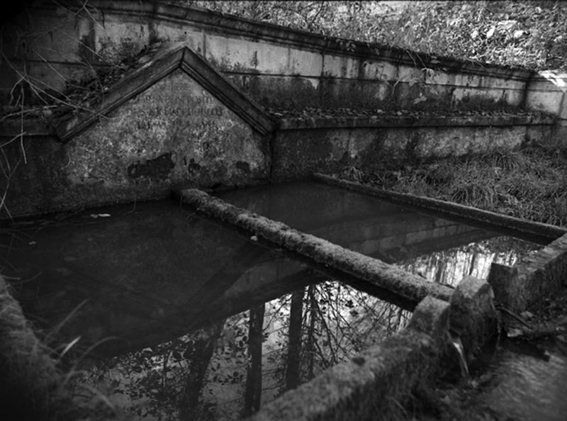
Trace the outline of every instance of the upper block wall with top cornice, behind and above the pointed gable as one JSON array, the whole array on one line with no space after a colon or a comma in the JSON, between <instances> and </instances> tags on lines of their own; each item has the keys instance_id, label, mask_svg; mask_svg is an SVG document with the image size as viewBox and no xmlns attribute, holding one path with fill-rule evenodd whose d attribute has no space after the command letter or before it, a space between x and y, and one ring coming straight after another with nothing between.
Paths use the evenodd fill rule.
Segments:
<instances>
[{"instance_id":1,"label":"upper block wall with top cornice, behind and above the pointed gable","mask_svg":"<svg viewBox=\"0 0 567 421\"><path fill-rule=\"evenodd\" d=\"M76 13L69 13L41 2L31 9L30 21L22 15L14 25L23 34L33 25L33 34L49 36L30 34L24 60L21 46L14 46L14 27L6 27L6 56L17 67L25 61L39 83L63 89L154 43L181 42L264 106L444 110L529 107L532 101L526 97L532 77L526 69L340 42L153 1L90 0L87 6L77 4ZM3 66L0 87L6 95L18 78Z\"/></svg>"}]
</instances>

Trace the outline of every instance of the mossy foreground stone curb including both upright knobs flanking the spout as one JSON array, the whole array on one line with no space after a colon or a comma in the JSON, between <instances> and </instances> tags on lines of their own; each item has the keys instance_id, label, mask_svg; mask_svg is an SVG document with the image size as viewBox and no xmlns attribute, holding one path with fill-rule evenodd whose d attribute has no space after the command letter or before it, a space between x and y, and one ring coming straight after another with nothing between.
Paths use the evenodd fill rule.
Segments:
<instances>
[{"instance_id":1,"label":"mossy foreground stone curb including both upright knobs flanking the spout","mask_svg":"<svg viewBox=\"0 0 567 421\"><path fill-rule=\"evenodd\" d=\"M455 331L466 361L497 334L498 313L485 281L466 276L450 304L427 296L404 330L286 392L249 420L390 419L393 402L403 404L455 366L447 361Z\"/></svg>"}]
</instances>

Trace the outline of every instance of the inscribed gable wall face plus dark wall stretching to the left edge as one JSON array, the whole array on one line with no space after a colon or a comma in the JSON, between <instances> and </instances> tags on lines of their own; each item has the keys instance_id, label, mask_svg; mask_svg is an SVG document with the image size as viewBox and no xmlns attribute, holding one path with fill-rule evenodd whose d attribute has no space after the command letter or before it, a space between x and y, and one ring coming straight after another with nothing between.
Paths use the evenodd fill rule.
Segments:
<instances>
[{"instance_id":1,"label":"inscribed gable wall face plus dark wall stretching to the left edge","mask_svg":"<svg viewBox=\"0 0 567 421\"><path fill-rule=\"evenodd\" d=\"M261 183L270 169L269 138L181 69L69 142L23 137L4 152L20 167L0 181L14 216L159 198L172 188Z\"/></svg>"}]
</instances>

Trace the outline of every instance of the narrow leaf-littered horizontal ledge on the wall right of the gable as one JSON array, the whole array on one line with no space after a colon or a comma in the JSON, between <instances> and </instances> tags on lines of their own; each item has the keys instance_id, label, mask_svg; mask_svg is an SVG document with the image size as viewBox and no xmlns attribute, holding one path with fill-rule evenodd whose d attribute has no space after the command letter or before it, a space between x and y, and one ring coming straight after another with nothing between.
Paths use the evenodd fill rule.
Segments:
<instances>
[{"instance_id":1,"label":"narrow leaf-littered horizontal ledge on the wall right of the gable","mask_svg":"<svg viewBox=\"0 0 567 421\"><path fill-rule=\"evenodd\" d=\"M279 130L318 128L399 128L399 127L466 127L554 125L555 116L347 116L329 118L281 118Z\"/></svg>"}]
</instances>

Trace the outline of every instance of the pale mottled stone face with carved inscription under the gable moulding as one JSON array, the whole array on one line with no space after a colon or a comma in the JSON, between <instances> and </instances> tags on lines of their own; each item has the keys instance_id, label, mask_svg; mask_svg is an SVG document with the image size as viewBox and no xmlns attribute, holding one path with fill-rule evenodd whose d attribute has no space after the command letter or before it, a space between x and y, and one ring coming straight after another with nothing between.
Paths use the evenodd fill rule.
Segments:
<instances>
[{"instance_id":1,"label":"pale mottled stone face with carved inscription under the gable moulding","mask_svg":"<svg viewBox=\"0 0 567 421\"><path fill-rule=\"evenodd\" d=\"M111 189L147 178L237 185L266 178L266 152L249 125L177 70L69 142L65 174Z\"/></svg>"}]
</instances>

